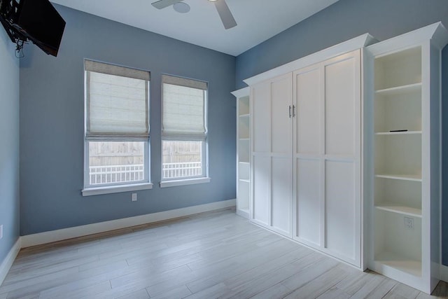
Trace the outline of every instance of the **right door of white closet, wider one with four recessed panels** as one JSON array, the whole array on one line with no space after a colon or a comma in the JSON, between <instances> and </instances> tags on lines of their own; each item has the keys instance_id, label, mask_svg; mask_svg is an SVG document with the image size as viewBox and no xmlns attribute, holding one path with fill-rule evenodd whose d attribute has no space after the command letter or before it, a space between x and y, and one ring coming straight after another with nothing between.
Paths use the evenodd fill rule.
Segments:
<instances>
[{"instance_id":1,"label":"right door of white closet, wider one with four recessed panels","mask_svg":"<svg viewBox=\"0 0 448 299\"><path fill-rule=\"evenodd\" d=\"M293 238L360 267L360 50L293 78Z\"/></svg>"}]
</instances>

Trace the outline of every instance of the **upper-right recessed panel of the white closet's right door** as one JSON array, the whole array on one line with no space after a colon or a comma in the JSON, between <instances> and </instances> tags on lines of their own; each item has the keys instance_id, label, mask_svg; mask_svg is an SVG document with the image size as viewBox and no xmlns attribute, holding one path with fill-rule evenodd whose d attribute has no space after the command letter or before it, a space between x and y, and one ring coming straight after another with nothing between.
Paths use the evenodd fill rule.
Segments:
<instances>
[{"instance_id":1,"label":"upper-right recessed panel of the white closet's right door","mask_svg":"<svg viewBox=\"0 0 448 299\"><path fill-rule=\"evenodd\" d=\"M325 153L356 153L356 101L359 100L356 57L325 66Z\"/></svg>"}]
</instances>

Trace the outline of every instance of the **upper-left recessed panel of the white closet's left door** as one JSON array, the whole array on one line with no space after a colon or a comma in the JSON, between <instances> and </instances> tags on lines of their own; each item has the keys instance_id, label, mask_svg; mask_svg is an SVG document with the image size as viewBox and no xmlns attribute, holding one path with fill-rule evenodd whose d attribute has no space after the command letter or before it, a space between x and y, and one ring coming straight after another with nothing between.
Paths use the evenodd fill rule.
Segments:
<instances>
[{"instance_id":1,"label":"upper-left recessed panel of the white closet's left door","mask_svg":"<svg viewBox=\"0 0 448 299\"><path fill-rule=\"evenodd\" d=\"M271 151L271 90L269 83L255 85L252 90L253 105L253 151L255 153L268 153Z\"/></svg>"}]
</instances>

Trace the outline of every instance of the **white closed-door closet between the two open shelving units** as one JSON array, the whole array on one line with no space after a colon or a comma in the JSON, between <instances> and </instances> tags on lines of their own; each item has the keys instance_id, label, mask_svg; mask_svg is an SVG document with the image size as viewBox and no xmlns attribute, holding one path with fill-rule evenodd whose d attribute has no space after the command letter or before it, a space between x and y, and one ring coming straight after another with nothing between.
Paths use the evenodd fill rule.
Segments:
<instances>
[{"instance_id":1,"label":"white closed-door closet between the two open shelving units","mask_svg":"<svg viewBox=\"0 0 448 299\"><path fill-rule=\"evenodd\" d=\"M299 67L286 74L247 82L251 220L359 268L360 48L369 41L365 35L290 64Z\"/></svg>"}]
</instances>

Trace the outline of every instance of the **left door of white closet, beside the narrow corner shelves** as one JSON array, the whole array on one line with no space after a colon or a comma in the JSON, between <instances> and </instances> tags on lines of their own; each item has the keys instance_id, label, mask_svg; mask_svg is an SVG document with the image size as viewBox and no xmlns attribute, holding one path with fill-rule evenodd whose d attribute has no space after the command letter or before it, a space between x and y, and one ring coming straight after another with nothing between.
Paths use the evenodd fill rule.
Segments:
<instances>
[{"instance_id":1,"label":"left door of white closet, beside the narrow corner shelves","mask_svg":"<svg viewBox=\"0 0 448 299\"><path fill-rule=\"evenodd\" d=\"M255 223L290 236L293 186L291 74L253 86L251 97L253 106L251 219Z\"/></svg>"}]
</instances>

